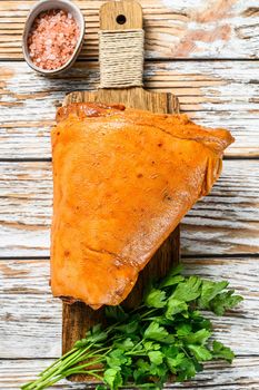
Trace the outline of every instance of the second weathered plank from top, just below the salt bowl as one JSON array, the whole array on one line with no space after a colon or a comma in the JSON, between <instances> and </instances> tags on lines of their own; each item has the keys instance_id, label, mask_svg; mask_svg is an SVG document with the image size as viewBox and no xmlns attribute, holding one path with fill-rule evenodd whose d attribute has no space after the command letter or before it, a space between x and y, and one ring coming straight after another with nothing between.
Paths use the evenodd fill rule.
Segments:
<instances>
[{"instance_id":1,"label":"second weathered plank from top, just below the salt bowl","mask_svg":"<svg viewBox=\"0 0 259 390\"><path fill-rule=\"evenodd\" d=\"M64 94L98 86L97 62L78 62L53 79L24 62L0 65L0 158L50 157L49 130ZM147 88L169 91L198 123L227 127L229 156L259 156L259 61L171 61L146 65Z\"/></svg>"}]
</instances>

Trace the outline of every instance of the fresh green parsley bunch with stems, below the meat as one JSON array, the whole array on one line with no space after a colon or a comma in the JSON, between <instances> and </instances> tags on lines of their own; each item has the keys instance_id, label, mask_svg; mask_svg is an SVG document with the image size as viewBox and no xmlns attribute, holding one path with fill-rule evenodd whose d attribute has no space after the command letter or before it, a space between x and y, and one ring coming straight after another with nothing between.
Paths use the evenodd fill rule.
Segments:
<instances>
[{"instance_id":1,"label":"fresh green parsley bunch with stems, below the meat","mask_svg":"<svg viewBox=\"0 0 259 390\"><path fill-rule=\"evenodd\" d=\"M201 314L222 315L242 298L227 290L228 282L183 276L181 266L155 283L139 308L107 306L108 324L93 326L74 348L44 370L23 390L46 389L71 374L88 374L103 384L97 390L162 389L173 378L188 380L205 361L231 362L233 352L210 341L211 322Z\"/></svg>"}]
</instances>

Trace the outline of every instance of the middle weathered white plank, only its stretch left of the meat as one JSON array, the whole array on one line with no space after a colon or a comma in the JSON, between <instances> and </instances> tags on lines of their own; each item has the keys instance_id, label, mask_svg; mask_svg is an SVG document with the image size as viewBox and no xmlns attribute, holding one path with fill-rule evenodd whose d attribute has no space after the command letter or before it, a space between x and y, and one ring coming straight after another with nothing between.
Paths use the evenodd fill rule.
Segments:
<instances>
[{"instance_id":1,"label":"middle weathered white plank, only its stretch left of the meat","mask_svg":"<svg viewBox=\"0 0 259 390\"><path fill-rule=\"evenodd\" d=\"M0 172L1 256L49 254L50 163L4 163Z\"/></svg>"}]
</instances>

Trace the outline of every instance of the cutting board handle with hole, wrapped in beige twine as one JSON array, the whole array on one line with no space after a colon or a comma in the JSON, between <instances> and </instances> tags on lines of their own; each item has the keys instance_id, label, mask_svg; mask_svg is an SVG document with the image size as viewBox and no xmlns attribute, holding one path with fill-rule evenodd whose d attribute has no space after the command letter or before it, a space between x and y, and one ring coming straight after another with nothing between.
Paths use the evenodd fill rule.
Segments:
<instances>
[{"instance_id":1,"label":"cutting board handle with hole, wrapped in beige twine","mask_svg":"<svg viewBox=\"0 0 259 390\"><path fill-rule=\"evenodd\" d=\"M143 76L142 8L135 0L100 8L100 88L141 87Z\"/></svg>"}]
</instances>

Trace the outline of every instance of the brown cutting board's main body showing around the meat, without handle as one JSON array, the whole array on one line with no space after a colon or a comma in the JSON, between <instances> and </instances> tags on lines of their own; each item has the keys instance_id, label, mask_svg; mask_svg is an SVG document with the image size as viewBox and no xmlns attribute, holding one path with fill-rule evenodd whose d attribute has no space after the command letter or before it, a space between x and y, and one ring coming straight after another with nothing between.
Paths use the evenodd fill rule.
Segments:
<instances>
[{"instance_id":1,"label":"brown cutting board's main body showing around the meat, without handle","mask_svg":"<svg viewBox=\"0 0 259 390\"><path fill-rule=\"evenodd\" d=\"M147 109L159 114L179 113L178 98L170 94L151 92L141 87L128 89L99 89L97 91L71 92L66 96L63 105L71 103L100 101L106 104L124 104L126 107ZM179 262L180 238L179 226L165 241L155 256L140 272L139 279L123 302L126 306L136 306L142 299L145 286L151 279L163 277L167 272ZM72 305L63 303L62 309L62 352L69 351L77 340L84 337L86 331L96 323L104 323L103 309L92 310L82 302ZM92 378L73 376L71 381L89 382Z\"/></svg>"}]
</instances>

